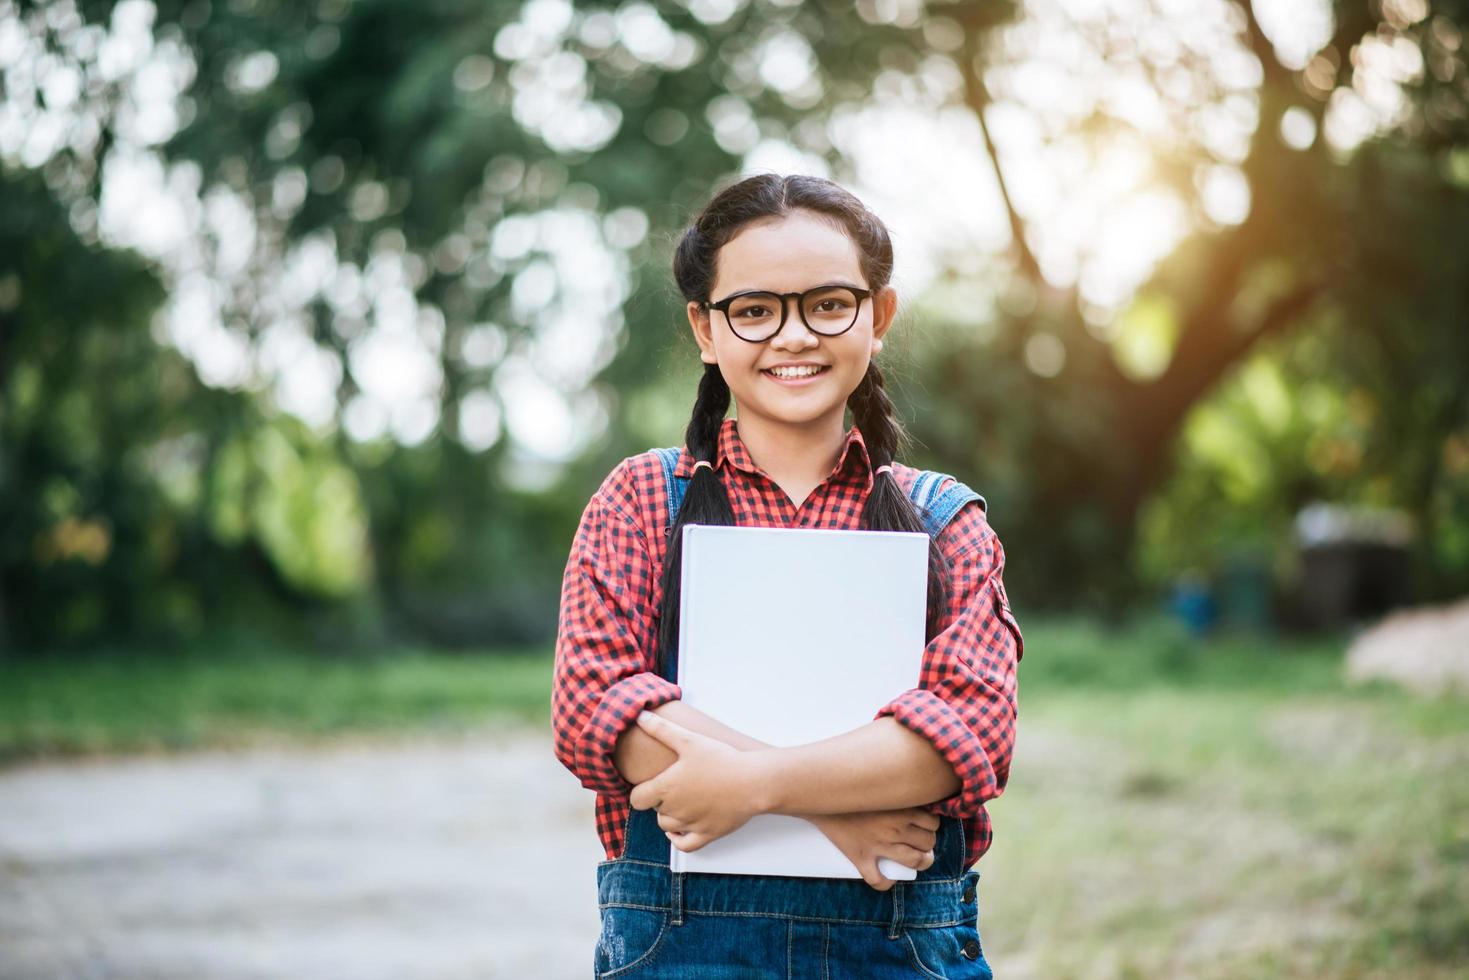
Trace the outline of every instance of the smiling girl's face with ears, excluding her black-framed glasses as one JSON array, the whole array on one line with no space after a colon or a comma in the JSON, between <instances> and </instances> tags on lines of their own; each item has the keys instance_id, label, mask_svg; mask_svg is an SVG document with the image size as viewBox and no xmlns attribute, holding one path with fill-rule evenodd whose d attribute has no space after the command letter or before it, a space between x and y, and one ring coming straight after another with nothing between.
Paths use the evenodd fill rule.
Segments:
<instances>
[{"instance_id":1,"label":"smiling girl's face with ears, excluding her black-framed glasses","mask_svg":"<svg viewBox=\"0 0 1469 980\"><path fill-rule=\"evenodd\" d=\"M745 226L715 259L711 303L751 289L801 292L830 284L870 288L855 242L834 225L804 210ZM705 310L698 303L689 304L689 323L699 357L705 364L720 366L740 419L842 430L846 400L867 373L868 360L881 348L881 336L892 326L896 309L896 292L884 287L862 300L849 331L824 336L806 328L795 298L789 298L784 326L759 344L740 339L723 313ZM782 381L770 373L782 364L817 364L821 372L795 382Z\"/></svg>"}]
</instances>

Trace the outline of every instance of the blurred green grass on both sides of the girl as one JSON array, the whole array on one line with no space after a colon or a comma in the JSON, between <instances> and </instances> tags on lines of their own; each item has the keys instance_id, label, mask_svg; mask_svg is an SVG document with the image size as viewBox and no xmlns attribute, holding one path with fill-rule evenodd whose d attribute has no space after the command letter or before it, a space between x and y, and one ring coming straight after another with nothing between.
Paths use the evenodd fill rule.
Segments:
<instances>
[{"instance_id":1,"label":"blurred green grass on both sides of the girl","mask_svg":"<svg viewBox=\"0 0 1469 980\"><path fill-rule=\"evenodd\" d=\"M1344 638L1025 624L981 934L1009 977L1466 976L1469 702ZM546 724L549 651L0 663L0 757Z\"/></svg>"}]
</instances>

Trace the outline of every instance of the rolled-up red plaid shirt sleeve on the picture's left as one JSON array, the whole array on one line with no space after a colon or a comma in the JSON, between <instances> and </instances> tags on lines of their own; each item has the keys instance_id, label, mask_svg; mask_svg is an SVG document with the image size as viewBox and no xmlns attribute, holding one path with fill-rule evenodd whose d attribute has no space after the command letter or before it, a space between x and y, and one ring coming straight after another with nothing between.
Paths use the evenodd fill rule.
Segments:
<instances>
[{"instance_id":1,"label":"rolled-up red plaid shirt sleeve on the picture's left","mask_svg":"<svg viewBox=\"0 0 1469 980\"><path fill-rule=\"evenodd\" d=\"M614 470L582 513L561 582L551 686L555 755L588 789L632 792L613 764L617 739L643 708L682 696L649 670L654 654L654 563L648 539L620 498Z\"/></svg>"}]
</instances>

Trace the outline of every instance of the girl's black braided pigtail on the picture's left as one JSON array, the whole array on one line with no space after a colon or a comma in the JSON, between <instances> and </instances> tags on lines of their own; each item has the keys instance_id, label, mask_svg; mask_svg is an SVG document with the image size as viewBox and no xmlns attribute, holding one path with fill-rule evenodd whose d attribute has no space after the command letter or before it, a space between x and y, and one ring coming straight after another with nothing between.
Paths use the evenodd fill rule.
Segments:
<instances>
[{"instance_id":1,"label":"girl's black braided pigtail on the picture's left","mask_svg":"<svg viewBox=\"0 0 1469 980\"><path fill-rule=\"evenodd\" d=\"M718 364L705 364L699 381L699 397L693 403L693 416L685 432L685 444L695 460L714 463L718 451L720 426L730 407L730 388L720 373ZM679 649L679 594L683 569L685 525L734 525L734 510L730 507L724 482L712 466L698 466L689 479L689 488L679 508L679 520L668 527L668 548L663 563L663 605L658 613L658 671L670 676Z\"/></svg>"}]
</instances>

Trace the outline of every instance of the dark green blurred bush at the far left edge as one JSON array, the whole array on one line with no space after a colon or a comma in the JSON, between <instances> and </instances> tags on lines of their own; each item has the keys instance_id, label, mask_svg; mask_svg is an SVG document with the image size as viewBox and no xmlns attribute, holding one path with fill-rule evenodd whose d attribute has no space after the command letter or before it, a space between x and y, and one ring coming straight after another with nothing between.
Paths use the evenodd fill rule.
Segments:
<instances>
[{"instance_id":1,"label":"dark green blurred bush at the far left edge","mask_svg":"<svg viewBox=\"0 0 1469 980\"><path fill-rule=\"evenodd\" d=\"M156 276L40 175L0 181L0 636L194 636L351 592L351 473L154 339Z\"/></svg>"}]
</instances>

